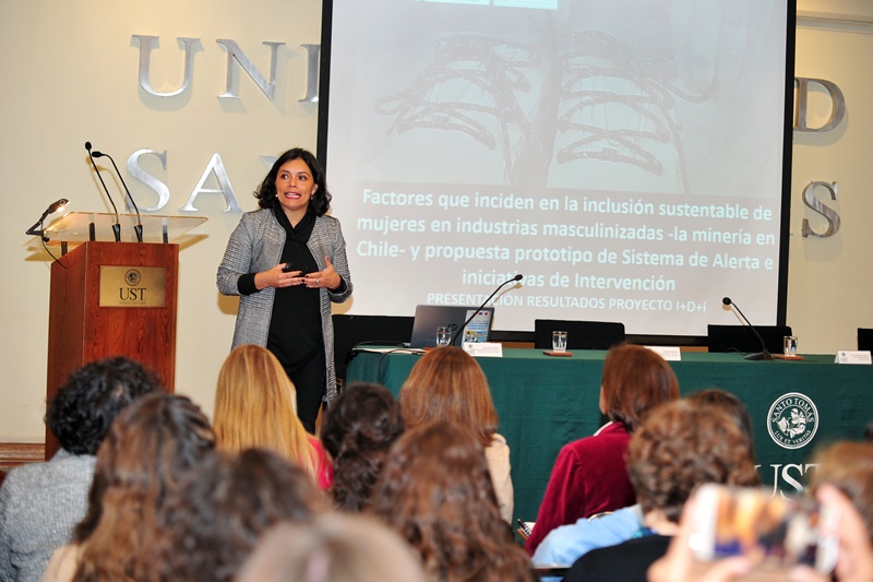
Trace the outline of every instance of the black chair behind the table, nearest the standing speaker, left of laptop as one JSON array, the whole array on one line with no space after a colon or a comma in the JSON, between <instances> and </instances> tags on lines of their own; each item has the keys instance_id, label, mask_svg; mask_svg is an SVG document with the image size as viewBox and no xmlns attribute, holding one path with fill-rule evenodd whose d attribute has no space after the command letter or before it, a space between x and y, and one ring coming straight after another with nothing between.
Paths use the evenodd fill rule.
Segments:
<instances>
[{"instance_id":1,"label":"black chair behind the table, nearest the standing speaker, left of laptop","mask_svg":"<svg viewBox=\"0 0 873 582\"><path fill-rule=\"evenodd\" d=\"M361 342L381 345L408 343L412 336L412 318L402 316L348 316L334 313L334 365L339 387L346 380L346 368L354 357L352 348Z\"/></svg>"}]
</instances>

